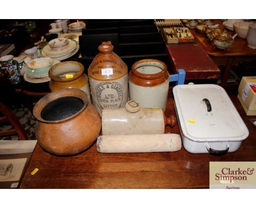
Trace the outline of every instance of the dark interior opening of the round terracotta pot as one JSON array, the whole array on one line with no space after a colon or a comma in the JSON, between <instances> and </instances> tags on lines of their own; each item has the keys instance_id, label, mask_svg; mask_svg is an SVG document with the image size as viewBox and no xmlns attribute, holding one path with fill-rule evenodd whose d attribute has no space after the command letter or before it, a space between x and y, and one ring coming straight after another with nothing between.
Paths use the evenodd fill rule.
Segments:
<instances>
[{"instance_id":1,"label":"dark interior opening of the round terracotta pot","mask_svg":"<svg viewBox=\"0 0 256 208\"><path fill-rule=\"evenodd\" d=\"M41 117L46 121L62 120L79 112L85 104L78 97L61 97L49 102L42 109Z\"/></svg>"}]
</instances>

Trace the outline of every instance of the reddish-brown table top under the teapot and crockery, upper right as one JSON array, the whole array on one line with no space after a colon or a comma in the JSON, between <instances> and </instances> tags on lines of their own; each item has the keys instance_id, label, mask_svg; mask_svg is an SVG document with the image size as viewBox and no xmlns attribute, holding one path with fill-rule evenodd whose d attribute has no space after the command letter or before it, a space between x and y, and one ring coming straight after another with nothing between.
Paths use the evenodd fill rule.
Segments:
<instances>
[{"instance_id":1,"label":"reddish-brown table top under the teapot and crockery, upper right","mask_svg":"<svg viewBox=\"0 0 256 208\"><path fill-rule=\"evenodd\" d=\"M219 24L219 29L224 30L225 27L220 20L214 20L214 23ZM235 32L226 29L228 34L234 35ZM234 44L226 49L226 51L220 48L214 48L205 34L197 33L195 29L190 29L190 32L194 35L194 38L201 44L206 53L210 56L218 57L237 57L237 56L256 56L256 50L247 46L247 40L236 36Z\"/></svg>"}]
</instances>

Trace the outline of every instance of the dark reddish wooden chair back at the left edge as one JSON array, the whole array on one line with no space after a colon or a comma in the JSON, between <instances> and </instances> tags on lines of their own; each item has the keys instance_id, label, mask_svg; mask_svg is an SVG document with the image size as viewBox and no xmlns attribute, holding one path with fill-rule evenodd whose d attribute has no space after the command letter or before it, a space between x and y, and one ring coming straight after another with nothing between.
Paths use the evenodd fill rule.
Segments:
<instances>
[{"instance_id":1,"label":"dark reddish wooden chair back at the left edge","mask_svg":"<svg viewBox=\"0 0 256 208\"><path fill-rule=\"evenodd\" d=\"M0 117L0 123L8 122L14 127L14 129L11 130L0 131L0 136L18 134L20 140L26 140L27 133L24 130L24 127L21 125L20 121L16 118L14 113L11 112L11 110L2 102L0 102L0 112L3 114L3 117Z\"/></svg>"}]
</instances>

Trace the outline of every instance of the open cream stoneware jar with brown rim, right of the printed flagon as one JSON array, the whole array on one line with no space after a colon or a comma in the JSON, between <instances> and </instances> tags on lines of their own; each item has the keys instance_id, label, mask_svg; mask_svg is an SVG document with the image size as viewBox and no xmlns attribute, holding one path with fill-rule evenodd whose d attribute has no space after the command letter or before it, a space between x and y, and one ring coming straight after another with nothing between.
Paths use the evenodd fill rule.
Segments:
<instances>
[{"instance_id":1,"label":"open cream stoneware jar with brown rim, right of the printed flagon","mask_svg":"<svg viewBox=\"0 0 256 208\"><path fill-rule=\"evenodd\" d=\"M144 108L166 110L170 74L165 63L156 59L135 62L129 72L130 99Z\"/></svg>"}]
</instances>

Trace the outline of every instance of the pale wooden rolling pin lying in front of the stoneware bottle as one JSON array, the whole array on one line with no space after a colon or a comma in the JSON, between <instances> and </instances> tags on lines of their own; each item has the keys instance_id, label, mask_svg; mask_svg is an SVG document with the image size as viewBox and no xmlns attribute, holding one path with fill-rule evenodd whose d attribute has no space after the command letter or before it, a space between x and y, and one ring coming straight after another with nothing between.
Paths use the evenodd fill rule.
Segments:
<instances>
[{"instance_id":1,"label":"pale wooden rolling pin lying in front of the stoneware bottle","mask_svg":"<svg viewBox=\"0 0 256 208\"><path fill-rule=\"evenodd\" d=\"M179 134L103 135L97 138L102 153L173 152L181 149Z\"/></svg>"}]
</instances>

